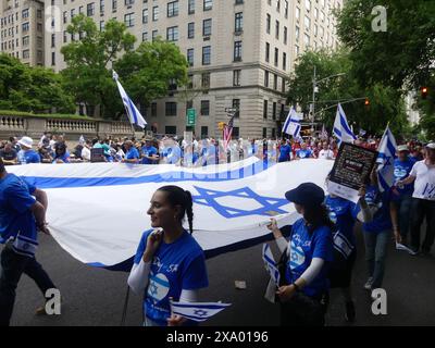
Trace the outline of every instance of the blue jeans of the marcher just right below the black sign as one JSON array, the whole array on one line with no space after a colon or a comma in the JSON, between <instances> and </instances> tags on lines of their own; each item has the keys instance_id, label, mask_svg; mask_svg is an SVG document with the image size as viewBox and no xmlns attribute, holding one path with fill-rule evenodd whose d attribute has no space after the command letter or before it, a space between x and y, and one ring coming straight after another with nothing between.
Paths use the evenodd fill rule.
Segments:
<instances>
[{"instance_id":1,"label":"blue jeans of the marcher just right below the black sign","mask_svg":"<svg viewBox=\"0 0 435 348\"><path fill-rule=\"evenodd\" d=\"M373 277L372 288L382 287L385 272L385 259L391 231L366 232L364 231L365 261L369 276Z\"/></svg>"}]
</instances>

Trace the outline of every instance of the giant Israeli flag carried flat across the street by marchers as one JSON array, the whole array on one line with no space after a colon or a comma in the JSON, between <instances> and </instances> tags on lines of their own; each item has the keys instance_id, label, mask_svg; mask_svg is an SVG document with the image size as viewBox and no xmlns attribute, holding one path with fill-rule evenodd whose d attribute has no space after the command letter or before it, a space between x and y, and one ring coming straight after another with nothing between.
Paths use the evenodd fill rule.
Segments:
<instances>
[{"instance_id":1,"label":"giant Israeli flag carried flat across the street by marchers","mask_svg":"<svg viewBox=\"0 0 435 348\"><path fill-rule=\"evenodd\" d=\"M284 192L308 181L323 187L332 165L312 159L268 167L251 157L203 167L77 163L8 171L46 190L49 228L63 249L89 265L129 271L142 233L152 228L147 210L159 187L191 192L192 236L211 258L272 239L271 216L279 227L291 225L300 215Z\"/></svg>"}]
</instances>

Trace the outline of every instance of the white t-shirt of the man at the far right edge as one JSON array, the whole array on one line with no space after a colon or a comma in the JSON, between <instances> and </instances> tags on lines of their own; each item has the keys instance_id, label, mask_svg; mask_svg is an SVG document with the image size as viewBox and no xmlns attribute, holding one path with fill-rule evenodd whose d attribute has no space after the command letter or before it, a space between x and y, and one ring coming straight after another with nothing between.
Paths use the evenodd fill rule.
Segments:
<instances>
[{"instance_id":1,"label":"white t-shirt of the man at the far right edge","mask_svg":"<svg viewBox=\"0 0 435 348\"><path fill-rule=\"evenodd\" d=\"M412 197L435 201L435 165L428 166L424 160L419 161L409 175L415 176Z\"/></svg>"}]
</instances>

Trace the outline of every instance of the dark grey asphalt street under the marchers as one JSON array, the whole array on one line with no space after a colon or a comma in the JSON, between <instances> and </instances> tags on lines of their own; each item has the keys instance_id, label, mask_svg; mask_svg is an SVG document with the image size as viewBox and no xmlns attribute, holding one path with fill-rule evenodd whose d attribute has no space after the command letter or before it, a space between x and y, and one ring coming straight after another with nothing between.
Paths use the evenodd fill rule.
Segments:
<instances>
[{"instance_id":1,"label":"dark grey asphalt street under the marchers","mask_svg":"<svg viewBox=\"0 0 435 348\"><path fill-rule=\"evenodd\" d=\"M366 281L361 233L357 232L358 259L353 276L357 320L344 319L344 303L338 290L331 291L327 326L348 325L435 325L435 258L411 257L388 250L384 288L387 291L387 314L374 315L371 300L363 289ZM273 244L274 245L274 244ZM276 248L272 247L276 254ZM51 237L40 236L37 259L60 288L61 315L35 315L44 298L35 283L23 275L15 302L12 325L85 325L117 326L121 324L126 295L127 273L87 266L73 259ZM263 298L268 275L261 261L261 245L224 253L207 261L210 286L201 300L233 303L203 325L270 326L278 324L279 310ZM236 289L235 281L245 281L246 289ZM141 299L130 294L126 325L142 322Z\"/></svg>"}]
</instances>

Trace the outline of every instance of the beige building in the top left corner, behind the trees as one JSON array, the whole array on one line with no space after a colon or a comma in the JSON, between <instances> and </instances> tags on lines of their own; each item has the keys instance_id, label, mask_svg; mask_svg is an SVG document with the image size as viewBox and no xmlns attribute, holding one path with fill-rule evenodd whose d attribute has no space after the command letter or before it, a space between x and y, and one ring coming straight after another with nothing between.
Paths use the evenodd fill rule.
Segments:
<instances>
[{"instance_id":1,"label":"beige building in the top left corner, behind the trees","mask_svg":"<svg viewBox=\"0 0 435 348\"><path fill-rule=\"evenodd\" d=\"M44 2L37 0L1 0L1 52L29 65L45 64Z\"/></svg>"}]
</instances>

